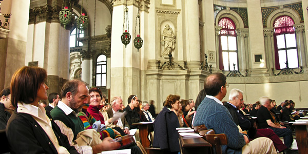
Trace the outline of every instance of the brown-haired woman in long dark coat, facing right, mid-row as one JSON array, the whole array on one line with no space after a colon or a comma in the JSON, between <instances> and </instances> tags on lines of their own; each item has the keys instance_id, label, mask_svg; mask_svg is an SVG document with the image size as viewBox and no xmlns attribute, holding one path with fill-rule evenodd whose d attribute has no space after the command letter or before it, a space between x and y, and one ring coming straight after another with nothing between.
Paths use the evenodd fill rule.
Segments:
<instances>
[{"instance_id":1,"label":"brown-haired woman in long dark coat, facing right, mid-row","mask_svg":"<svg viewBox=\"0 0 308 154\"><path fill-rule=\"evenodd\" d=\"M178 153L180 151L179 134L176 128L180 127L178 110L180 96L169 94L162 111L157 115L154 127L153 147L159 147L164 153Z\"/></svg>"}]
</instances>

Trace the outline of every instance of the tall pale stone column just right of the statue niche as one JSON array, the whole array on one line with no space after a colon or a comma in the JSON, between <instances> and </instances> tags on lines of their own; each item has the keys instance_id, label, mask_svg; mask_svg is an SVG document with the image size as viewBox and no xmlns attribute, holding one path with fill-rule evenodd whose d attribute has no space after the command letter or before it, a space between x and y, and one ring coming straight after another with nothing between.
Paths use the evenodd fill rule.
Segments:
<instances>
[{"instance_id":1,"label":"tall pale stone column just right of the statue niche","mask_svg":"<svg viewBox=\"0 0 308 154\"><path fill-rule=\"evenodd\" d=\"M198 0L185 1L187 40L186 53L189 69L199 69L200 66L200 34L199 34L199 17L198 17Z\"/></svg>"}]
</instances>

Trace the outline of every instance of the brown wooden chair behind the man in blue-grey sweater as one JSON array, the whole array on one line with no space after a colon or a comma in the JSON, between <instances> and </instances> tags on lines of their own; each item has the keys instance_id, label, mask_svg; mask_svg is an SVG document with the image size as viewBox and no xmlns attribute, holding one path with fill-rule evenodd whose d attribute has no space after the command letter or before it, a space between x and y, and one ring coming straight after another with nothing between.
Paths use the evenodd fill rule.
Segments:
<instances>
[{"instance_id":1,"label":"brown wooden chair behind the man in blue-grey sweater","mask_svg":"<svg viewBox=\"0 0 308 154\"><path fill-rule=\"evenodd\" d=\"M202 130L199 134L213 147L215 146L216 153L222 153L221 145L228 143L227 136L224 133L215 134L213 129Z\"/></svg>"}]
</instances>

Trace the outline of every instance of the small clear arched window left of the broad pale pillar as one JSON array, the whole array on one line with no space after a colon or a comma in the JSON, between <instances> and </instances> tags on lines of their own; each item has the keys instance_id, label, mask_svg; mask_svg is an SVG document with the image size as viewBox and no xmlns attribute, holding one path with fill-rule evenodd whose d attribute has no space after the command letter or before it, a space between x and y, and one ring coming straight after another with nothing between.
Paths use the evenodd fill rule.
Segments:
<instances>
[{"instance_id":1,"label":"small clear arched window left of the broad pale pillar","mask_svg":"<svg viewBox=\"0 0 308 154\"><path fill-rule=\"evenodd\" d=\"M96 65L96 86L97 87L106 87L107 79L107 57L104 54L101 54L97 59Z\"/></svg>"}]
</instances>

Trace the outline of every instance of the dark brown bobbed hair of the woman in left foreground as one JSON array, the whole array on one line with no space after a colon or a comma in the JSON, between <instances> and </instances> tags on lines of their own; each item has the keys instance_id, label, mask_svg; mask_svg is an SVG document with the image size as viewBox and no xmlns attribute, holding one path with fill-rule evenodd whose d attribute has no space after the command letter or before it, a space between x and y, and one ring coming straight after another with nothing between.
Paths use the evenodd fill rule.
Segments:
<instances>
[{"instance_id":1,"label":"dark brown bobbed hair of the woman in left foreground","mask_svg":"<svg viewBox=\"0 0 308 154\"><path fill-rule=\"evenodd\" d=\"M24 66L18 69L11 80L11 102L17 107L18 101L30 104L37 97L37 90L47 78L47 72L40 67Z\"/></svg>"}]
</instances>

